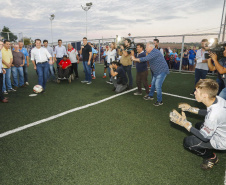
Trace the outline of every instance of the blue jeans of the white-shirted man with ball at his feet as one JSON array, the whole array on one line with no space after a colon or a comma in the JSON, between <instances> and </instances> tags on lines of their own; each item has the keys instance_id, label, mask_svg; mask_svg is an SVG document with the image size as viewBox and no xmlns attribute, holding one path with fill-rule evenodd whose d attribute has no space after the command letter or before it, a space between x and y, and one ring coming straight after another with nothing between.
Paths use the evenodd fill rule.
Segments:
<instances>
[{"instance_id":1,"label":"blue jeans of the white-shirted man with ball at his feet","mask_svg":"<svg viewBox=\"0 0 226 185\"><path fill-rule=\"evenodd\" d=\"M49 72L49 63L37 63L37 73L38 73L38 84L43 87L43 89L46 89L46 82L48 79L48 72Z\"/></svg>"}]
</instances>

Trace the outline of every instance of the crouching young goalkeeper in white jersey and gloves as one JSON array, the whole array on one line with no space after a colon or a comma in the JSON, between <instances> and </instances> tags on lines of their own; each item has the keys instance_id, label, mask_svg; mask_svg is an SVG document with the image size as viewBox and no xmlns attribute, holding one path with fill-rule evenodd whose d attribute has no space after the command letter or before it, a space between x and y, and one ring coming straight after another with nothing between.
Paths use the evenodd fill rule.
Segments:
<instances>
[{"instance_id":1,"label":"crouching young goalkeeper in white jersey and gloves","mask_svg":"<svg viewBox=\"0 0 226 185\"><path fill-rule=\"evenodd\" d=\"M181 103L179 108L182 109L182 114L173 110L169 115L170 121L185 127L193 134L184 138L184 147L203 157L201 168L204 170L211 169L218 163L218 157L213 150L226 150L226 101L216 96L218 88L214 80L201 79L196 84L195 99L206 105L207 110ZM205 120L192 127L183 111L205 116Z\"/></svg>"}]
</instances>

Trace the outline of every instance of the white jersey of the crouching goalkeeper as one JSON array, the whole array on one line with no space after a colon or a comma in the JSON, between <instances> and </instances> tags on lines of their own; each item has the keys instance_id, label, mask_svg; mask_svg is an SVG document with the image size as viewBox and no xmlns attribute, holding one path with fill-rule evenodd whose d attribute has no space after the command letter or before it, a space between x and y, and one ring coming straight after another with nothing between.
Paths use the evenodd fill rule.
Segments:
<instances>
[{"instance_id":1,"label":"white jersey of the crouching goalkeeper","mask_svg":"<svg viewBox=\"0 0 226 185\"><path fill-rule=\"evenodd\" d=\"M213 148L226 150L226 100L217 96L217 102L207 107L207 115L200 133Z\"/></svg>"}]
</instances>

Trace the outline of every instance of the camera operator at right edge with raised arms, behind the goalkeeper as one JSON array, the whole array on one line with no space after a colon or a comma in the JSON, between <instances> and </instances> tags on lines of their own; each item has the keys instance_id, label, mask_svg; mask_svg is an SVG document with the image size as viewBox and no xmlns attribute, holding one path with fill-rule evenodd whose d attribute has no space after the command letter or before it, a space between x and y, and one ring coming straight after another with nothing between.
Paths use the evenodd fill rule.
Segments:
<instances>
[{"instance_id":1,"label":"camera operator at right edge with raised arms, behind the goalkeeper","mask_svg":"<svg viewBox=\"0 0 226 185\"><path fill-rule=\"evenodd\" d=\"M217 70L218 73L219 73L219 79L220 80L223 80L224 82L224 88L222 89L222 91L220 92L219 96L224 98L226 100L226 47L225 47L225 50L223 52L223 58L221 58L218 62L217 60L217 55L215 53L211 53L210 52L210 57L208 59L208 67L210 69L210 71L215 71ZM214 65L212 64L212 61L211 59L213 60L214 62Z\"/></svg>"}]
</instances>

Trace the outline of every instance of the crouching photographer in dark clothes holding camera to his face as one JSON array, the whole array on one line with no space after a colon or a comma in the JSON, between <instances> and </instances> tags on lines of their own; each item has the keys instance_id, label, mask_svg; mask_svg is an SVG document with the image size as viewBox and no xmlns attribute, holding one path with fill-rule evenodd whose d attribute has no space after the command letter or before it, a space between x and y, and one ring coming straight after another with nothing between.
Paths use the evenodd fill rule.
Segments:
<instances>
[{"instance_id":1,"label":"crouching photographer in dark clothes holding camera to his face","mask_svg":"<svg viewBox=\"0 0 226 185\"><path fill-rule=\"evenodd\" d=\"M127 88L128 79L123 66L119 62L114 61L109 68L111 70L111 79L114 85L113 91L116 93L124 91Z\"/></svg>"}]
</instances>

